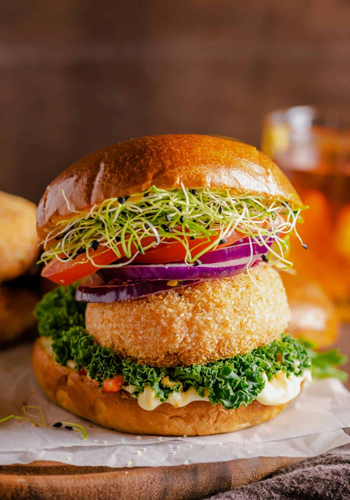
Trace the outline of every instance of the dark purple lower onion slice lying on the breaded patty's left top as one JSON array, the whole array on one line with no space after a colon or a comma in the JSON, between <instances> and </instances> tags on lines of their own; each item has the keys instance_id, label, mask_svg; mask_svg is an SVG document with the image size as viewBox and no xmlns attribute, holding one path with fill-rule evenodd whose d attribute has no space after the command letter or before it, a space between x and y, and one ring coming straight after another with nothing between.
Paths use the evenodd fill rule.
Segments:
<instances>
[{"instance_id":1,"label":"dark purple lower onion slice lying on the breaded patty's left top","mask_svg":"<svg viewBox=\"0 0 350 500\"><path fill-rule=\"evenodd\" d=\"M196 283L199 283L199 280L186 281L185 283L179 282L175 286L168 285L167 281L141 281L137 283L102 286L80 285L76 289L75 300L79 302L120 302Z\"/></svg>"}]
</instances>

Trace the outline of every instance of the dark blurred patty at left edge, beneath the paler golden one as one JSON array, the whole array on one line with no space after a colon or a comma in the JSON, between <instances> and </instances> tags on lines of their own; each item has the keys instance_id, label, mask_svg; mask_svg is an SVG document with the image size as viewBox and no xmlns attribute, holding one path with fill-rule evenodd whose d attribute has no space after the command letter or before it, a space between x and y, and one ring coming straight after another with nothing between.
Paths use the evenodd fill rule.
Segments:
<instances>
[{"instance_id":1,"label":"dark blurred patty at left edge, beneath the paler golden one","mask_svg":"<svg viewBox=\"0 0 350 500\"><path fill-rule=\"evenodd\" d=\"M23 287L0 286L0 343L7 343L24 330L34 326L33 314L37 302L33 290Z\"/></svg>"}]
</instances>

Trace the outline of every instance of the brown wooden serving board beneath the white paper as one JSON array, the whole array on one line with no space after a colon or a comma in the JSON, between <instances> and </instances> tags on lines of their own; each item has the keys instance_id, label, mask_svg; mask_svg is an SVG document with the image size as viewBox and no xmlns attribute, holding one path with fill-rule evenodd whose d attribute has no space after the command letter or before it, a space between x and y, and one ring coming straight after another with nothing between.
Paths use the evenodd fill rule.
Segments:
<instances>
[{"instance_id":1,"label":"brown wooden serving board beneath the white paper","mask_svg":"<svg viewBox=\"0 0 350 500\"><path fill-rule=\"evenodd\" d=\"M192 500L255 482L300 461L256 457L171 467L0 465L1 500Z\"/></svg>"}]
</instances>

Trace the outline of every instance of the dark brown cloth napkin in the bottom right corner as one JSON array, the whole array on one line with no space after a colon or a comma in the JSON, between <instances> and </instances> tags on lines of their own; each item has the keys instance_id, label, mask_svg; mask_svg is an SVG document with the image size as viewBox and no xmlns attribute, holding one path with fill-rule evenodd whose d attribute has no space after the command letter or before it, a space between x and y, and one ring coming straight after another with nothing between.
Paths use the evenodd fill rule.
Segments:
<instances>
[{"instance_id":1,"label":"dark brown cloth napkin in the bottom right corner","mask_svg":"<svg viewBox=\"0 0 350 500\"><path fill-rule=\"evenodd\" d=\"M210 496L210 500L293 498L350 500L350 453L334 452L307 458L262 481Z\"/></svg>"}]
</instances>

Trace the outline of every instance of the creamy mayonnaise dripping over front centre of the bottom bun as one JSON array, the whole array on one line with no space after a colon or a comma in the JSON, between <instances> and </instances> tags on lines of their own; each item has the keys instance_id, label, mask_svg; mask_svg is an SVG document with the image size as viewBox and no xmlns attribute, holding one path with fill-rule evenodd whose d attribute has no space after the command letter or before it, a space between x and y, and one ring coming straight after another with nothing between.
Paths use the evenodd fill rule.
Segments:
<instances>
[{"instance_id":1,"label":"creamy mayonnaise dripping over front centre of the bottom bun","mask_svg":"<svg viewBox=\"0 0 350 500\"><path fill-rule=\"evenodd\" d=\"M132 394L136 389L136 385L122 385L122 388ZM164 403L170 403L175 406L175 408L181 408L181 406L185 406L192 401L209 401L209 399L208 396L201 397L194 387L190 387L186 391L173 392ZM163 404L150 385L145 385L144 391L137 397L137 402L141 408L149 411Z\"/></svg>"}]
</instances>

